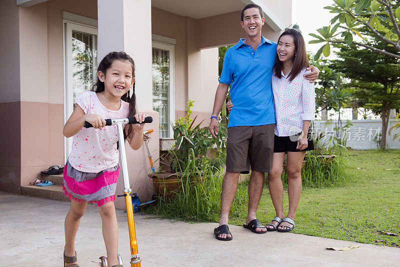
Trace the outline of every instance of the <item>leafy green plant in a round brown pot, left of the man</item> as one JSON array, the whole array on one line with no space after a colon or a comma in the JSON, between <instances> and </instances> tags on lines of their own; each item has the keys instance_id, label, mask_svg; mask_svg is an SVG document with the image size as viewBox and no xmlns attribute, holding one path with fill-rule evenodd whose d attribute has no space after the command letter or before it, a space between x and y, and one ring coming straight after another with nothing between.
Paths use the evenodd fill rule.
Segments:
<instances>
[{"instance_id":1,"label":"leafy green plant in a round brown pot, left of the man","mask_svg":"<svg viewBox=\"0 0 400 267\"><path fill-rule=\"evenodd\" d=\"M217 138L212 138L208 128L200 126L202 121L195 124L197 116L191 119L193 102L188 101L186 115L172 125L174 144L160 159L166 170L148 174L159 196L173 196L184 183L201 182L224 165L226 128L220 125Z\"/></svg>"}]
</instances>

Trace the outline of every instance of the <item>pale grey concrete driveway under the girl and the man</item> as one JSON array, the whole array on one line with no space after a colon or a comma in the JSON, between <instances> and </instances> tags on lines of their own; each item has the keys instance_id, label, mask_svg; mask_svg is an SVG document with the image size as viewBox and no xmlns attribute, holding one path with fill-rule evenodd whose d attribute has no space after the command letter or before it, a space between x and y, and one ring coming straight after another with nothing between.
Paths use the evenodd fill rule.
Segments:
<instances>
[{"instance_id":1,"label":"pale grey concrete driveway under the girl and the man","mask_svg":"<svg viewBox=\"0 0 400 267\"><path fill-rule=\"evenodd\" d=\"M69 203L0 192L0 266L62 266L63 222ZM126 213L117 210L119 254L129 266ZM400 266L400 248L294 233L254 234L229 225L231 241L218 241L216 223L188 223L135 214L141 266ZM76 236L81 267L98 266L105 254L101 219L88 205Z\"/></svg>"}]
</instances>

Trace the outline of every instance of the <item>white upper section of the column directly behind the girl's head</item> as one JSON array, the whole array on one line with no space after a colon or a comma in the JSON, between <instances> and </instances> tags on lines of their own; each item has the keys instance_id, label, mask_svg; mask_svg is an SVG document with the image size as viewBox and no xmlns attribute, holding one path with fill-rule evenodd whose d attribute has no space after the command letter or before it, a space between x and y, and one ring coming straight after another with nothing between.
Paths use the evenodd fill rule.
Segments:
<instances>
[{"instance_id":1,"label":"white upper section of the column directly behind the girl's head","mask_svg":"<svg viewBox=\"0 0 400 267\"><path fill-rule=\"evenodd\" d=\"M151 3L143 0L97 0L98 59L125 51L136 65L139 109L152 109Z\"/></svg>"}]
</instances>

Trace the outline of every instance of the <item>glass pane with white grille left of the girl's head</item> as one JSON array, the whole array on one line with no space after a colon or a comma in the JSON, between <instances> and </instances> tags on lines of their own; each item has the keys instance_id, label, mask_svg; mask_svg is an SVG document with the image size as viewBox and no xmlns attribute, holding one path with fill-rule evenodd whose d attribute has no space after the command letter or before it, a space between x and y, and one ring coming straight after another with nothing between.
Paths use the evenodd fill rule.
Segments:
<instances>
[{"instance_id":1,"label":"glass pane with white grille left of the girl's head","mask_svg":"<svg viewBox=\"0 0 400 267\"><path fill-rule=\"evenodd\" d=\"M97 65L95 35L72 30L72 100L91 88Z\"/></svg>"}]
</instances>

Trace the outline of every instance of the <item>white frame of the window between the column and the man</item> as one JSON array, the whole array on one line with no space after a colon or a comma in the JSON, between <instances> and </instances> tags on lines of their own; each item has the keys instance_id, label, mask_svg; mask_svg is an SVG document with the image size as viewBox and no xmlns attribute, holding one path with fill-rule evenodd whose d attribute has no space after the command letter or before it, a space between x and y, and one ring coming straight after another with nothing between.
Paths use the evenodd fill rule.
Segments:
<instances>
[{"instance_id":1,"label":"white frame of the window between the column and the man","mask_svg":"<svg viewBox=\"0 0 400 267\"><path fill-rule=\"evenodd\" d=\"M154 38L155 36L155 38ZM157 41L154 39L159 39L162 41L165 41L166 38L168 37L163 37L159 35L152 34L152 42L151 42L151 47L152 48L157 48L157 49L162 49L162 50L167 50L169 51L169 94L168 94L168 118L169 122L172 122L172 124L175 124L175 45L171 43L165 43L161 41ZM172 38L168 38L170 40L174 40ZM168 131L169 137L165 138L171 138L173 136L173 130L172 127L169 127ZM160 137L160 139L162 139Z\"/></svg>"}]
</instances>

